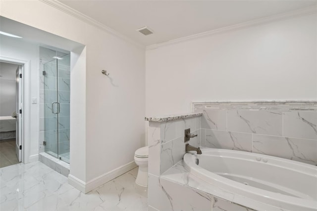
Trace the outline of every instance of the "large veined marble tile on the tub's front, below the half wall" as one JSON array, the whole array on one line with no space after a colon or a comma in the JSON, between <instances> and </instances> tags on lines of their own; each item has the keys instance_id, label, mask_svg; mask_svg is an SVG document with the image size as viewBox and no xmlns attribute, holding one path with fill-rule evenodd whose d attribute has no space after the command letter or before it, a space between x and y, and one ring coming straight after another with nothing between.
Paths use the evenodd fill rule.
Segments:
<instances>
[{"instance_id":1,"label":"large veined marble tile on the tub's front, below the half wall","mask_svg":"<svg viewBox=\"0 0 317 211\"><path fill-rule=\"evenodd\" d=\"M212 196L154 175L149 175L149 206L160 211L208 211Z\"/></svg>"}]
</instances>

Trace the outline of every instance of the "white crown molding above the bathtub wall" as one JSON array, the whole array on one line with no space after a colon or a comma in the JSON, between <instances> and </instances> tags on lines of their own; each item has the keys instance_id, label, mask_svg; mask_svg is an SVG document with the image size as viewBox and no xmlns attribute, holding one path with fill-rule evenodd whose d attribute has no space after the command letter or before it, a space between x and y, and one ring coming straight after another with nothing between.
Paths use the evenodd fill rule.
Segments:
<instances>
[{"instance_id":1,"label":"white crown molding above the bathtub wall","mask_svg":"<svg viewBox=\"0 0 317 211\"><path fill-rule=\"evenodd\" d=\"M247 28L247 27L252 27L252 26L256 26L256 25L261 25L261 24L285 20L285 19L290 19L290 18L303 16L303 15L315 14L316 12L317 12L317 6L310 6L310 7L306 7L303 9L297 9L297 10L293 10L290 12L284 12L284 13L280 13L277 15L271 15L268 17L247 21L244 23L238 23L235 25L226 26L226 27L214 29L211 31L202 32L199 34L190 35L190 36L170 40L170 41L159 43L159 44L150 45L150 46L146 47L146 50L154 50L154 49L158 49L160 47L164 47L164 46L168 46L168 45L172 45L172 44L176 44L176 43L181 43L181 42L185 42L185 41L189 41L189 40L195 40L195 39L199 39L202 37L211 36L214 34L235 31L235 30L239 30L239 29L243 29L243 28Z\"/></svg>"}]
</instances>

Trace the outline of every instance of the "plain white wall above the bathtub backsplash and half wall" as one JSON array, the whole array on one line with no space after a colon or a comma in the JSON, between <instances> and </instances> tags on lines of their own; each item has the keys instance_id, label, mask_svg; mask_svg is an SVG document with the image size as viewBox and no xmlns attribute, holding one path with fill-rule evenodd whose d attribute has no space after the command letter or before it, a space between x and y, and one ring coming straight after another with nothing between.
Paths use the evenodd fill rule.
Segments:
<instances>
[{"instance_id":1,"label":"plain white wall above the bathtub backsplash and half wall","mask_svg":"<svg viewBox=\"0 0 317 211\"><path fill-rule=\"evenodd\" d=\"M146 52L146 115L192 101L317 99L315 15L215 34Z\"/></svg>"}]
</instances>

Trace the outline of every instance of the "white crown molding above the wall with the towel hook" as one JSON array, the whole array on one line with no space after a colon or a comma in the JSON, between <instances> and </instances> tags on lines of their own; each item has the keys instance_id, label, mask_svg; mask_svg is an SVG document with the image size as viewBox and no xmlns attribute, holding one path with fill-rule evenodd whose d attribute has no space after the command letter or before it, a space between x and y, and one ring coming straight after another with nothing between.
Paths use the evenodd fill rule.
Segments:
<instances>
[{"instance_id":1,"label":"white crown molding above the wall with the towel hook","mask_svg":"<svg viewBox=\"0 0 317 211\"><path fill-rule=\"evenodd\" d=\"M73 16L73 17L75 17L75 18L77 18L77 19L79 19L81 21L84 21L84 22L86 22L86 23L88 23L90 25L96 26L97 28L102 29L102 30L104 30L104 31L106 31L106 32L108 32L108 33L110 33L110 34L112 34L112 35L124 40L124 41L128 41L128 42L134 44L135 46L137 46L139 48L145 49L144 45L142 45L142 44L140 44L138 42L135 42L134 40L128 38L127 36L117 32L114 29L111 29L110 27L102 24L101 22L99 22L99 21L97 21L97 20L95 20L95 19L93 19L93 18L91 18L91 17L89 17L89 16L87 16L87 15L85 15L85 14L83 14L83 13L81 13L81 12L79 12L79 11L77 11L77 10L67 6L67 5L65 5L65 4L63 4L63 3L61 3L58 0L40 0L40 1L52 6L54 8L56 8L56 9L58 9L58 10L60 10L62 12L65 12L66 14L69 14L69 15L71 15L71 16Z\"/></svg>"}]
</instances>

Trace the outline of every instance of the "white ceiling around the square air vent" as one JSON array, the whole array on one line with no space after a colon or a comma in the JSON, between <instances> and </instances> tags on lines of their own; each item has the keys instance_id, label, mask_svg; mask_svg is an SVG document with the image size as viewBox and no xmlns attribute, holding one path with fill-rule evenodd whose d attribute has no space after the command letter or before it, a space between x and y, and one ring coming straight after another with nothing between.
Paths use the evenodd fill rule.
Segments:
<instances>
[{"instance_id":1,"label":"white ceiling around the square air vent","mask_svg":"<svg viewBox=\"0 0 317 211\"><path fill-rule=\"evenodd\" d=\"M145 46L317 5L317 0L59 1ZM136 31L144 26L155 33Z\"/></svg>"}]
</instances>

